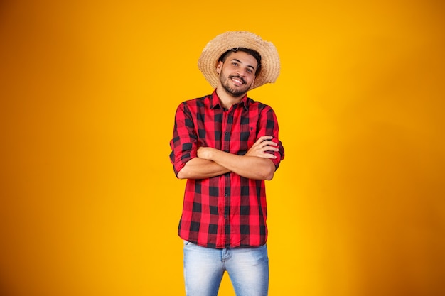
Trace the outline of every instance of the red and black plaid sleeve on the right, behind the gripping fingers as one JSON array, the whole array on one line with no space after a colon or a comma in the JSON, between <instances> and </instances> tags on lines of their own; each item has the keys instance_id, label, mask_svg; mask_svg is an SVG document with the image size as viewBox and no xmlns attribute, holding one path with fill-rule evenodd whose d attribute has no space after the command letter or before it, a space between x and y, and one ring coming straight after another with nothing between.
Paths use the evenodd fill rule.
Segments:
<instances>
[{"instance_id":1,"label":"red and black plaid sleeve on the right, behind the gripping fingers","mask_svg":"<svg viewBox=\"0 0 445 296\"><path fill-rule=\"evenodd\" d=\"M279 141L278 136L278 120L275 115L274 110L270 106L266 106L262 110L261 115L259 116L259 131L257 133L257 137L261 136L273 136L272 141L278 144L278 151L266 151L266 153L271 153L277 156L277 158L271 158L272 162L275 165L275 170L279 167L279 163L284 159L284 147L282 141Z\"/></svg>"}]
</instances>

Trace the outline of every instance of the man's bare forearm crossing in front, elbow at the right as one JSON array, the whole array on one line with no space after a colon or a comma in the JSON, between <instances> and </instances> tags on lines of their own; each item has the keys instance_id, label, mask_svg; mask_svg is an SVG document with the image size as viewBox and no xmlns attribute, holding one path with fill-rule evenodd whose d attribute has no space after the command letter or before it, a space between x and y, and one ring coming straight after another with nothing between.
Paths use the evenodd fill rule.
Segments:
<instances>
[{"instance_id":1,"label":"man's bare forearm crossing in front, elbow at the right","mask_svg":"<svg viewBox=\"0 0 445 296\"><path fill-rule=\"evenodd\" d=\"M269 158L236 155L218 149L207 150L205 158L249 179L272 180L274 177L275 166Z\"/></svg>"}]
</instances>

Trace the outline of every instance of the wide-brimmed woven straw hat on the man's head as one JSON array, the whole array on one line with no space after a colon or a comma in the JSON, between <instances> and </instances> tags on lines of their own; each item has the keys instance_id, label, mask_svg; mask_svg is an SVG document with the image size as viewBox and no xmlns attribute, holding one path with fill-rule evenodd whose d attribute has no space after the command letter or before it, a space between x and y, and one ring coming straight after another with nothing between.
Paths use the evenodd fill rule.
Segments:
<instances>
[{"instance_id":1,"label":"wide-brimmed woven straw hat on the man's head","mask_svg":"<svg viewBox=\"0 0 445 296\"><path fill-rule=\"evenodd\" d=\"M205 79L216 87L219 80L219 75L216 72L216 66L218 65L218 59L223 53L232 48L249 48L256 50L261 55L261 70L255 81L250 87L260 87L266 83L273 83L277 80L279 75L279 56L277 48L269 42L262 40L254 33L247 31L230 31L222 33L216 36L213 40L210 40L198 60L198 68Z\"/></svg>"}]
</instances>

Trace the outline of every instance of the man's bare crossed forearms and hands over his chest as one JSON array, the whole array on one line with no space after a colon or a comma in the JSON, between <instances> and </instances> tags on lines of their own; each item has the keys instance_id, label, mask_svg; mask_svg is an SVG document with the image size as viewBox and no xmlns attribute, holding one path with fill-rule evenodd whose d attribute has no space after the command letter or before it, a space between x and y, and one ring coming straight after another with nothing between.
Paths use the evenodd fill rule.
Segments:
<instances>
[{"instance_id":1,"label":"man's bare crossed forearms and hands over his chest","mask_svg":"<svg viewBox=\"0 0 445 296\"><path fill-rule=\"evenodd\" d=\"M210 147L199 147L198 157L188 160L178 172L179 179L204 179L227 172L249 179L272 180L275 165L270 160L275 155L264 153L278 151L272 136L260 137L245 155L236 155Z\"/></svg>"}]
</instances>

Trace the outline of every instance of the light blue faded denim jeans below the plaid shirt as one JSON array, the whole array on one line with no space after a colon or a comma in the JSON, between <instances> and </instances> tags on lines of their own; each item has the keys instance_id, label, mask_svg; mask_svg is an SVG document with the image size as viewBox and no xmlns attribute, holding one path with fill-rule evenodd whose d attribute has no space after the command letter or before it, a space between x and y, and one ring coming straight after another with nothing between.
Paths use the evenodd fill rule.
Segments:
<instances>
[{"instance_id":1,"label":"light blue faded denim jeans below the plaid shirt","mask_svg":"<svg viewBox=\"0 0 445 296\"><path fill-rule=\"evenodd\" d=\"M267 296L267 246L203 248L184 241L184 279L187 296L216 296L227 270L237 296Z\"/></svg>"}]
</instances>

